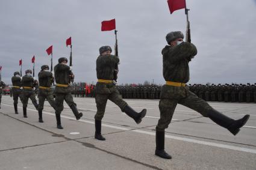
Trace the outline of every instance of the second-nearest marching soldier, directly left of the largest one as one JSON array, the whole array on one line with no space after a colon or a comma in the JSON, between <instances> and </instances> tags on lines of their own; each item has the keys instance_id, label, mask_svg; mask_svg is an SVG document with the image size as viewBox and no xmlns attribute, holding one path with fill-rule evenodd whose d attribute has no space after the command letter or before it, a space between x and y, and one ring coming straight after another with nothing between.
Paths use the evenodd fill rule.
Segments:
<instances>
[{"instance_id":1,"label":"second-nearest marching soldier, directly left of the largest one","mask_svg":"<svg viewBox=\"0 0 256 170\"><path fill-rule=\"evenodd\" d=\"M128 104L123 101L116 85L113 82L115 65L119 63L117 56L111 55L112 49L110 46L102 46L99 48L99 56L96 60L96 72L98 82L96 83L96 106L97 113L95 115L95 139L105 141L101 135L101 120L104 117L107 100L115 103L122 112L125 112L129 117L133 118L137 124L142 121L146 115L146 109L137 113Z\"/></svg>"}]
</instances>

